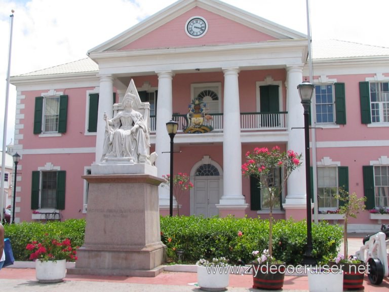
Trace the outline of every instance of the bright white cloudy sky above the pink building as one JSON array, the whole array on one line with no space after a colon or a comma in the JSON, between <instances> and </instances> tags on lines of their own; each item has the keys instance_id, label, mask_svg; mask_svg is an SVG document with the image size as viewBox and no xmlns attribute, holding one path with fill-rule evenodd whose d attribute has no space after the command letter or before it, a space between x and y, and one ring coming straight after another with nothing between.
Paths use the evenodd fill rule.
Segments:
<instances>
[{"instance_id":1,"label":"bright white cloudy sky above the pink building","mask_svg":"<svg viewBox=\"0 0 389 292\"><path fill-rule=\"evenodd\" d=\"M82 59L86 52L173 4L174 0L0 0L0 116L4 117L11 9L11 76ZM306 33L306 0L224 0ZM312 37L389 47L389 1L310 0ZM16 91L10 87L7 143L14 136ZM0 119L0 141L4 118Z\"/></svg>"}]
</instances>

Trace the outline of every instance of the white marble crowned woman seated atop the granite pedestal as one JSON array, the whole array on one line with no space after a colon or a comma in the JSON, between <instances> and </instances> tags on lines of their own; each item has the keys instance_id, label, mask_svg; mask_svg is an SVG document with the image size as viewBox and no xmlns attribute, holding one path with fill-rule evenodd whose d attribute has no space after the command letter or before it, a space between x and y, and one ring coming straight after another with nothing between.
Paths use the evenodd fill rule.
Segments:
<instances>
[{"instance_id":1,"label":"white marble crowned woman seated atop the granite pedestal","mask_svg":"<svg viewBox=\"0 0 389 292\"><path fill-rule=\"evenodd\" d=\"M123 111L108 119L104 113L105 140L103 161L109 159L125 160L130 163L146 163L149 161L149 132L141 113L133 109L136 96L126 93L123 99Z\"/></svg>"}]
</instances>

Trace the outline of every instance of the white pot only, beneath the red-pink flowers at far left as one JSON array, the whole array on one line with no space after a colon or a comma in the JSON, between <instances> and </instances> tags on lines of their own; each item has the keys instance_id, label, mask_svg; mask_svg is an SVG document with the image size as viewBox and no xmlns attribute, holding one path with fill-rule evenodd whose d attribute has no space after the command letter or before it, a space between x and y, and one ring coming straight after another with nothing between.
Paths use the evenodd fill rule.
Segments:
<instances>
[{"instance_id":1,"label":"white pot only, beneath the red-pink flowers at far left","mask_svg":"<svg viewBox=\"0 0 389 292\"><path fill-rule=\"evenodd\" d=\"M66 276L66 260L35 261L36 279L41 283L61 282Z\"/></svg>"}]
</instances>

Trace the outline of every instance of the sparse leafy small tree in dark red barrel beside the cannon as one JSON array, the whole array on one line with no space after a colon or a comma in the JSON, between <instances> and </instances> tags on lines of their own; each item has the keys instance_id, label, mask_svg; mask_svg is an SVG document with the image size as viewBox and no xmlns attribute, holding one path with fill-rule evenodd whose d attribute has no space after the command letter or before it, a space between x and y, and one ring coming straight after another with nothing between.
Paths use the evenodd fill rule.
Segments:
<instances>
[{"instance_id":1,"label":"sparse leafy small tree in dark red barrel beside the cannon","mask_svg":"<svg viewBox=\"0 0 389 292\"><path fill-rule=\"evenodd\" d=\"M360 211L365 209L366 197L358 198L356 193L349 194L339 188L335 197L339 200L339 213L343 214L343 254L339 253L335 259L343 271L343 289L363 289L365 263L355 256L348 257L347 224L350 217L356 218Z\"/></svg>"}]
</instances>

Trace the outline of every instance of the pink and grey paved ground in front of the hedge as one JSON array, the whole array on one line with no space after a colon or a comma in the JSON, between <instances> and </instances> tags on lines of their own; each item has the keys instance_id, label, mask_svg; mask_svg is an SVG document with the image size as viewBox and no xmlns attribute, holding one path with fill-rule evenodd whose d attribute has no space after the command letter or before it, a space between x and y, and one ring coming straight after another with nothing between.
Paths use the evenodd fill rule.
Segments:
<instances>
[{"instance_id":1,"label":"pink and grey paved ground in front of the hedge","mask_svg":"<svg viewBox=\"0 0 389 292\"><path fill-rule=\"evenodd\" d=\"M362 237L349 239L349 254L354 254L355 251L359 250L362 245L361 238ZM196 273L163 272L153 278L68 274L63 282L42 284L37 282L35 270L33 268L8 267L0 271L0 287L2 290L19 292L44 292L54 290L56 292L200 292L201 290L196 285L196 282ZM227 290L230 292L262 291L260 289L253 289L252 284L251 275L230 275ZM389 278L384 278L381 285L374 286L370 284L368 277L365 276L364 286L366 292L386 292L389 290ZM308 291L308 279L306 276L285 276L283 290L287 292Z\"/></svg>"}]
</instances>

